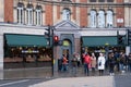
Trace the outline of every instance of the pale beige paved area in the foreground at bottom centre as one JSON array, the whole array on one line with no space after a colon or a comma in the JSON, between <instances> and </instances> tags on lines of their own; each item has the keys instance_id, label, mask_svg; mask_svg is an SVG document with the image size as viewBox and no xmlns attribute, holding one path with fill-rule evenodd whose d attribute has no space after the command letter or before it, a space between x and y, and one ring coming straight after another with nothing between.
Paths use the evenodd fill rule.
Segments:
<instances>
[{"instance_id":1,"label":"pale beige paved area in the foreground at bottom centre","mask_svg":"<svg viewBox=\"0 0 131 87\"><path fill-rule=\"evenodd\" d=\"M29 87L115 87L114 76L64 77Z\"/></svg>"}]
</instances>

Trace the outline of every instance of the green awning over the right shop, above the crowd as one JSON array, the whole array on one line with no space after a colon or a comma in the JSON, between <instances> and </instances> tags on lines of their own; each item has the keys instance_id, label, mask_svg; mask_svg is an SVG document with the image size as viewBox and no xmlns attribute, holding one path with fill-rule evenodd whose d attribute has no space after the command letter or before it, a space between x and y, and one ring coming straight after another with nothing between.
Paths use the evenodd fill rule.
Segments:
<instances>
[{"instance_id":1,"label":"green awning over the right shop, above the crowd","mask_svg":"<svg viewBox=\"0 0 131 87\"><path fill-rule=\"evenodd\" d=\"M83 47L95 47L95 46L117 46L118 39L117 36L84 36L82 37L82 46Z\"/></svg>"}]
</instances>

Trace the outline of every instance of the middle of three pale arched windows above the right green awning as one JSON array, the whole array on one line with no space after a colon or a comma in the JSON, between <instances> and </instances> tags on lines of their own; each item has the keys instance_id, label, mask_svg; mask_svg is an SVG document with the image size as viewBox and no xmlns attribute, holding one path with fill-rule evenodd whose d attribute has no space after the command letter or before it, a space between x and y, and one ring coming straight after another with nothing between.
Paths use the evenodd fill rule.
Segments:
<instances>
[{"instance_id":1,"label":"middle of three pale arched windows above the right green awning","mask_svg":"<svg viewBox=\"0 0 131 87\"><path fill-rule=\"evenodd\" d=\"M98 12L98 27L105 27L105 12L103 10Z\"/></svg>"}]
</instances>

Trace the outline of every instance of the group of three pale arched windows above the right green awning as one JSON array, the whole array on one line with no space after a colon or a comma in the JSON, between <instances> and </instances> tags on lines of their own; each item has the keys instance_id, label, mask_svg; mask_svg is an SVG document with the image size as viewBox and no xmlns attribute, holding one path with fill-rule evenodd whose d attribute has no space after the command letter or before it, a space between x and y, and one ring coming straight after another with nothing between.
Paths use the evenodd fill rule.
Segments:
<instances>
[{"instance_id":1,"label":"group of three pale arched windows above the right green awning","mask_svg":"<svg viewBox=\"0 0 131 87\"><path fill-rule=\"evenodd\" d=\"M91 27L114 27L114 11L112 10L91 10L90 12L90 26Z\"/></svg>"}]
</instances>

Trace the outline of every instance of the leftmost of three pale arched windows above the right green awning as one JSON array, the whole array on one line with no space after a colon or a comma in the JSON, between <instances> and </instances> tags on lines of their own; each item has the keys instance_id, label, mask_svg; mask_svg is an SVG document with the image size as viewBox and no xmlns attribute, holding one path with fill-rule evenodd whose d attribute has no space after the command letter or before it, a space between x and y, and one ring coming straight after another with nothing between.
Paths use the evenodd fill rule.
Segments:
<instances>
[{"instance_id":1,"label":"leftmost of three pale arched windows above the right green awning","mask_svg":"<svg viewBox=\"0 0 131 87\"><path fill-rule=\"evenodd\" d=\"M96 27L96 11L92 10L90 14L91 14L91 16L90 16L90 26L91 27Z\"/></svg>"}]
</instances>

